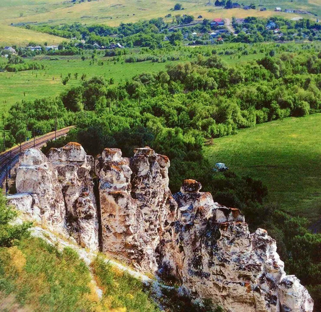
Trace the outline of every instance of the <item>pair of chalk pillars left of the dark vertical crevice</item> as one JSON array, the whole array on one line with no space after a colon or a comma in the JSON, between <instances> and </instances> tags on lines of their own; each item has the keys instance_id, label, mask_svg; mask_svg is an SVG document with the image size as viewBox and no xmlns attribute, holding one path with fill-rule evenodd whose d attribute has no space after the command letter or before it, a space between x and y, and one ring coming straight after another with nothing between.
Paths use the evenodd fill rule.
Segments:
<instances>
[{"instance_id":1,"label":"pair of chalk pillars left of the dark vertical crevice","mask_svg":"<svg viewBox=\"0 0 321 312\"><path fill-rule=\"evenodd\" d=\"M49 230L72 236L82 247L98 249L98 217L93 192L92 156L78 143L50 149L48 158L31 148L20 157L18 194L8 196L16 206Z\"/></svg>"}]
</instances>

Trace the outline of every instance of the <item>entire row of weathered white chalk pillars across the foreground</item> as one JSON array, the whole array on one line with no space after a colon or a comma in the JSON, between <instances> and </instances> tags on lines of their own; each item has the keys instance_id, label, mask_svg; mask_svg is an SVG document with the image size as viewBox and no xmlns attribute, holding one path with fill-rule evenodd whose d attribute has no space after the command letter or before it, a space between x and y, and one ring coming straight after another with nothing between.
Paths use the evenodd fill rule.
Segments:
<instances>
[{"instance_id":1,"label":"entire row of weathered white chalk pillars across the foreground","mask_svg":"<svg viewBox=\"0 0 321 312\"><path fill-rule=\"evenodd\" d=\"M275 241L250 233L243 214L213 202L201 184L168 187L169 159L151 148L105 149L94 161L81 145L24 152L17 170L20 194L9 203L49 229L69 233L140 271L172 275L193 299L210 299L230 312L311 312L313 300L286 275ZM99 180L95 198L92 173Z\"/></svg>"}]
</instances>

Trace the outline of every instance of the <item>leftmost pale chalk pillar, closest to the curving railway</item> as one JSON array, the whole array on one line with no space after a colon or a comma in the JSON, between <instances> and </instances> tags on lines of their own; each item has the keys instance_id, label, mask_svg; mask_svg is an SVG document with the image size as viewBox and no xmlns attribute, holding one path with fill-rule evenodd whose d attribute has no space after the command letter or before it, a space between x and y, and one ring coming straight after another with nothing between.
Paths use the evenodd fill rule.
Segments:
<instances>
[{"instance_id":1,"label":"leftmost pale chalk pillar, closest to the curving railway","mask_svg":"<svg viewBox=\"0 0 321 312\"><path fill-rule=\"evenodd\" d=\"M31 212L34 220L66 235L65 204L57 170L39 149L31 148L20 157L16 188L18 193L30 195L15 196L13 204L21 204L21 210Z\"/></svg>"}]
</instances>

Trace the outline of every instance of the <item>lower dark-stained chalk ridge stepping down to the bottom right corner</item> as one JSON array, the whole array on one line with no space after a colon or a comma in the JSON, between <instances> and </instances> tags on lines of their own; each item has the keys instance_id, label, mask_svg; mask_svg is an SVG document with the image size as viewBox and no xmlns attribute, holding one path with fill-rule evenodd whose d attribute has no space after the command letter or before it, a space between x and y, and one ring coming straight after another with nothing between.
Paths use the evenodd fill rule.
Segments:
<instances>
[{"instance_id":1,"label":"lower dark-stained chalk ridge stepping down to the bottom right corner","mask_svg":"<svg viewBox=\"0 0 321 312\"><path fill-rule=\"evenodd\" d=\"M177 221L170 225L163 270L172 269L192 298L228 311L312 311L308 291L285 274L275 240L262 229L250 234L238 209L213 203L200 188L185 180L173 195Z\"/></svg>"}]
</instances>

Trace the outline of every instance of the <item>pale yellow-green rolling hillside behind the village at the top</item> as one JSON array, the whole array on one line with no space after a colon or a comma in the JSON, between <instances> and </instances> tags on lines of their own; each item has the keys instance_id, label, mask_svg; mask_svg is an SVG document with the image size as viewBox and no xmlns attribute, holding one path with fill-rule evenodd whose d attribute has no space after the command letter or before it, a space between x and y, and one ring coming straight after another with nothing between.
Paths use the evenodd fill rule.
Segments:
<instances>
[{"instance_id":1,"label":"pale yellow-green rolling hillside behind the village at the top","mask_svg":"<svg viewBox=\"0 0 321 312\"><path fill-rule=\"evenodd\" d=\"M55 43L59 37L48 37L46 34L39 34L31 30L19 30L9 26L11 23L72 23L80 22L82 24L108 24L117 26L121 22L137 22L139 20L148 20L154 17L164 17L168 13L192 14L195 17L202 15L204 18L213 19L217 17L231 18L258 16L269 17L272 15L281 15L286 18L299 16L298 14L277 13L274 12L275 6L281 6L282 9L302 9L308 10L318 16L321 16L321 6L318 0L293 0L289 3L286 0L268 0L264 2L267 11L261 12L259 0L243 0L242 4L247 5L255 3L255 10L230 9L214 7L214 1L211 5L207 0L184 0L180 3L184 6L182 11L172 11L171 8L177 3L177 0L147 1L147 0L100 0L74 4L64 0L48 0L46 2L22 1L22 0L0 0L0 45L26 45L29 41L37 43ZM314 15L302 15L303 17L316 19ZM171 21L171 18L167 19Z\"/></svg>"}]
</instances>

